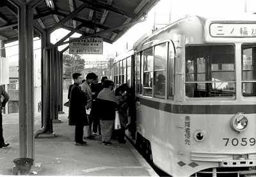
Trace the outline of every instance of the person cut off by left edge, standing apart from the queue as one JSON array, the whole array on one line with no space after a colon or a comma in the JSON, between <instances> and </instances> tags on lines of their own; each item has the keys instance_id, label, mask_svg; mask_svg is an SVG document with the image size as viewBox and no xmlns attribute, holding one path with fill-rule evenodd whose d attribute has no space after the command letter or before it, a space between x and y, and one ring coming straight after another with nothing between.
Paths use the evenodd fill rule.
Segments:
<instances>
[{"instance_id":1,"label":"person cut off by left edge, standing apart from the queue","mask_svg":"<svg viewBox=\"0 0 256 177\"><path fill-rule=\"evenodd\" d=\"M2 116L2 109L5 106L5 104L9 100L9 96L7 92L4 90L2 86L0 86L0 98L1 96L4 96L4 100L1 102L0 101L0 148L7 147L10 144L9 143L4 143L4 138L3 138L3 116Z\"/></svg>"}]
</instances>

